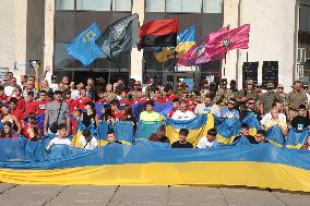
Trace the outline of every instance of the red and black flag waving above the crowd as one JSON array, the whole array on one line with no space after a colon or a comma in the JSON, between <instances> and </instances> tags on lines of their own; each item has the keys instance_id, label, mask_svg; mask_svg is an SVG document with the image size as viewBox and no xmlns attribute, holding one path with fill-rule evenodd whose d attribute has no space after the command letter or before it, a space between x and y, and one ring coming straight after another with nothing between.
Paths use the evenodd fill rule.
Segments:
<instances>
[{"instance_id":1,"label":"red and black flag waving above the crowd","mask_svg":"<svg viewBox=\"0 0 310 206\"><path fill-rule=\"evenodd\" d=\"M147 22L140 28L140 46L176 47L178 31L179 19Z\"/></svg>"}]
</instances>

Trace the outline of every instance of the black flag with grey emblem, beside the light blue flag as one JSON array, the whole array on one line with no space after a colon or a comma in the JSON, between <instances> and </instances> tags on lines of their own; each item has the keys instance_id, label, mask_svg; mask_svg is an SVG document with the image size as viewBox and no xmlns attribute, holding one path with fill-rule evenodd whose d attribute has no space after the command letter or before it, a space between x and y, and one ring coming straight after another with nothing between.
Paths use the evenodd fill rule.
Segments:
<instances>
[{"instance_id":1,"label":"black flag with grey emblem, beside the light blue flag","mask_svg":"<svg viewBox=\"0 0 310 206\"><path fill-rule=\"evenodd\" d=\"M104 53L112 57L130 50L139 44L139 21L138 14L122 17L107 27L107 29L96 40Z\"/></svg>"}]
</instances>

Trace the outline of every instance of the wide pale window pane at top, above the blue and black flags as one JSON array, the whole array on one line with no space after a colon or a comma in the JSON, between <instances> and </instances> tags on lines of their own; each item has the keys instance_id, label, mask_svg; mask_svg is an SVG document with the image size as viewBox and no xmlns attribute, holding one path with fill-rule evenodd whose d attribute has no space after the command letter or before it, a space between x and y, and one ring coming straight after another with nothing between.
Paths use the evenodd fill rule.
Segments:
<instances>
[{"instance_id":1,"label":"wide pale window pane at top, above the blue and black flags","mask_svg":"<svg viewBox=\"0 0 310 206\"><path fill-rule=\"evenodd\" d=\"M110 11L111 0L76 0L76 10Z\"/></svg>"}]
</instances>

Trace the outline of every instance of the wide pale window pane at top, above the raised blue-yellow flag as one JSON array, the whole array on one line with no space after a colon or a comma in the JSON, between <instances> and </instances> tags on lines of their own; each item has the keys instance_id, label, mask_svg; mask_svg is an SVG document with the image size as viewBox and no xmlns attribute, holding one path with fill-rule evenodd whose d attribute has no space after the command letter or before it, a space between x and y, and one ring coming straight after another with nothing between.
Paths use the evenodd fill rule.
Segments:
<instances>
[{"instance_id":1,"label":"wide pale window pane at top, above the raised blue-yellow flag","mask_svg":"<svg viewBox=\"0 0 310 206\"><path fill-rule=\"evenodd\" d=\"M166 0L166 12L201 13L201 0Z\"/></svg>"}]
</instances>

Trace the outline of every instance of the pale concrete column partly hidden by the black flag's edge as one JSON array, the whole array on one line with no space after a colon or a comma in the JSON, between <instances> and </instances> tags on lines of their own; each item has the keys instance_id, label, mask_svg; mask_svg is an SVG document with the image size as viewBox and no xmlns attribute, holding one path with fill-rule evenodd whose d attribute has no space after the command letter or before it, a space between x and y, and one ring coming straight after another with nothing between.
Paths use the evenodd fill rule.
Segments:
<instances>
[{"instance_id":1,"label":"pale concrete column partly hidden by the black flag's edge","mask_svg":"<svg viewBox=\"0 0 310 206\"><path fill-rule=\"evenodd\" d=\"M144 21L144 0L132 1L132 13L139 14L140 26ZM143 50L139 51L136 48L131 50L131 72L130 77L142 82L143 74Z\"/></svg>"}]
</instances>

